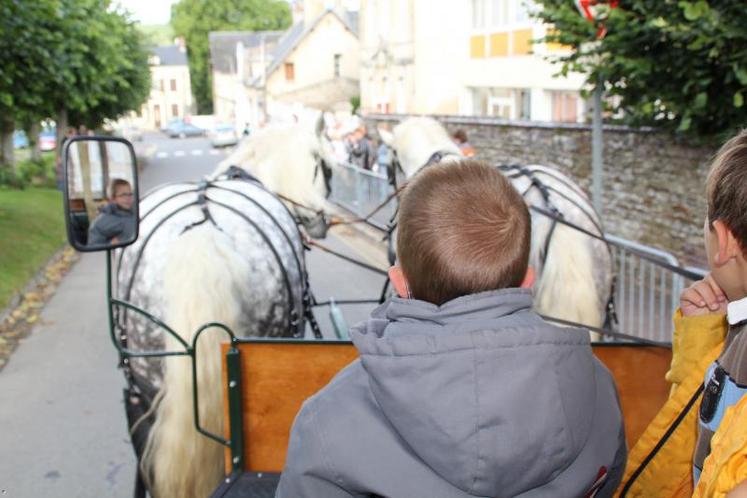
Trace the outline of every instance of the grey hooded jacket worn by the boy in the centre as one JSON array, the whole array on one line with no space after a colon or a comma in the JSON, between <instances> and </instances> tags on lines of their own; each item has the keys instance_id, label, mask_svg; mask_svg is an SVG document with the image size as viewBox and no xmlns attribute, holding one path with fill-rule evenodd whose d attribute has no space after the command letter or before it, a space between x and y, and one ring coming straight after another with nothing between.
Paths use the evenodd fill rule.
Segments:
<instances>
[{"instance_id":1,"label":"grey hooded jacket worn by the boy in the centre","mask_svg":"<svg viewBox=\"0 0 747 498\"><path fill-rule=\"evenodd\" d=\"M282 498L611 496L626 460L614 381L588 332L531 293L394 298L351 331L361 358L293 424Z\"/></svg>"}]
</instances>

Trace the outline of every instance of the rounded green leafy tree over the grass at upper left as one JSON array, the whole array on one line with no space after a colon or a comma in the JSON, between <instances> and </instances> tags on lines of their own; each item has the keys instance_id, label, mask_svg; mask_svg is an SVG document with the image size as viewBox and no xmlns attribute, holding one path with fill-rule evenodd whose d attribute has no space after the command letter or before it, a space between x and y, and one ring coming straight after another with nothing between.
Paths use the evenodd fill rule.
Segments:
<instances>
[{"instance_id":1,"label":"rounded green leafy tree over the grass at upper left","mask_svg":"<svg viewBox=\"0 0 747 498\"><path fill-rule=\"evenodd\" d=\"M137 109L150 87L142 39L109 0L0 0L0 174L19 124L52 117L61 143L68 117L93 128Z\"/></svg>"}]
</instances>

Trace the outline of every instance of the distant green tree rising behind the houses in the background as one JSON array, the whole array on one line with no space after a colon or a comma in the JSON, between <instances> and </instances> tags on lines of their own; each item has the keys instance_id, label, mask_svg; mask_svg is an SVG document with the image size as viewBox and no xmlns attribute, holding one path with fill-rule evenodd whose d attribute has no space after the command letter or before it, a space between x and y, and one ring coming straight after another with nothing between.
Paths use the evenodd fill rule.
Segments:
<instances>
[{"instance_id":1,"label":"distant green tree rising behind the houses in the background","mask_svg":"<svg viewBox=\"0 0 747 498\"><path fill-rule=\"evenodd\" d=\"M283 0L181 0L171 10L174 33L187 44L192 92L200 114L213 112L211 31L286 29L291 15Z\"/></svg>"}]
</instances>

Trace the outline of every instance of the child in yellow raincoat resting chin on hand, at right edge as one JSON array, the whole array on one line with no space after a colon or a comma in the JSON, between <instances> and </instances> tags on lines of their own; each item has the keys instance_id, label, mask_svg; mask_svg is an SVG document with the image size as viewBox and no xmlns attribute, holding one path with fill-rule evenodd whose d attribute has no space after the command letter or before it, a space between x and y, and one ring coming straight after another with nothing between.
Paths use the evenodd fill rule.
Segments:
<instances>
[{"instance_id":1,"label":"child in yellow raincoat resting chin on hand, at right edge","mask_svg":"<svg viewBox=\"0 0 747 498\"><path fill-rule=\"evenodd\" d=\"M747 497L747 130L719 150L706 195L710 273L680 296L672 395L630 452L620 497Z\"/></svg>"}]
</instances>

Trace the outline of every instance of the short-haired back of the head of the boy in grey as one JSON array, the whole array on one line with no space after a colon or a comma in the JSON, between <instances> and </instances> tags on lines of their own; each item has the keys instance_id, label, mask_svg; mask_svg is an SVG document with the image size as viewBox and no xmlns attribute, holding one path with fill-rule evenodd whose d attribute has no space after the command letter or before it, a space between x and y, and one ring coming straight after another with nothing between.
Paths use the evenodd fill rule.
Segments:
<instances>
[{"instance_id":1,"label":"short-haired back of the head of the boy in grey","mask_svg":"<svg viewBox=\"0 0 747 498\"><path fill-rule=\"evenodd\" d=\"M404 189L397 256L412 297L441 305L518 287L529 261L529 210L497 168L430 166Z\"/></svg>"}]
</instances>

